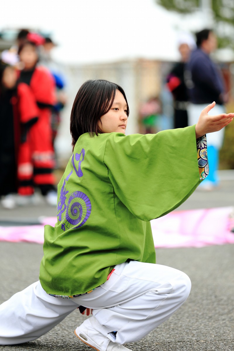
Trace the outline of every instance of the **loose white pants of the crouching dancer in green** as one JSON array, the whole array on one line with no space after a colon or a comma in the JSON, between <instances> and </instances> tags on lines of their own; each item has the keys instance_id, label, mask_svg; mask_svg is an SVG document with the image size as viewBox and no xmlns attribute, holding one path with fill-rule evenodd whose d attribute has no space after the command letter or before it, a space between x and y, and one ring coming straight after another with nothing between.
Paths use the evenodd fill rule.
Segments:
<instances>
[{"instance_id":1,"label":"loose white pants of the crouching dancer in green","mask_svg":"<svg viewBox=\"0 0 234 351\"><path fill-rule=\"evenodd\" d=\"M106 283L72 299L49 296L36 282L0 306L0 345L39 338L79 305L93 309L105 336L117 331L116 343L135 342L168 319L185 302L190 288L185 273L137 261L116 265Z\"/></svg>"}]
</instances>

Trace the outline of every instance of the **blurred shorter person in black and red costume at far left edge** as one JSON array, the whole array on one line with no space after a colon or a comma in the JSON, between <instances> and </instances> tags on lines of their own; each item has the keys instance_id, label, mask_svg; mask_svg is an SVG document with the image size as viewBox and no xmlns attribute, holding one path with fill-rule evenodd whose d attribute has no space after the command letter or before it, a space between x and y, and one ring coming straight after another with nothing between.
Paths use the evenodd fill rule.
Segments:
<instances>
[{"instance_id":1,"label":"blurred shorter person in black and red costume at far left edge","mask_svg":"<svg viewBox=\"0 0 234 351\"><path fill-rule=\"evenodd\" d=\"M3 207L12 209L16 205L19 186L17 169L21 155L28 155L28 134L38 120L38 107L31 89L17 81L15 67L0 62L0 196ZM22 166L22 165L21 165ZM24 164L28 167L28 164ZM32 179L22 174L21 186L33 191Z\"/></svg>"}]
</instances>

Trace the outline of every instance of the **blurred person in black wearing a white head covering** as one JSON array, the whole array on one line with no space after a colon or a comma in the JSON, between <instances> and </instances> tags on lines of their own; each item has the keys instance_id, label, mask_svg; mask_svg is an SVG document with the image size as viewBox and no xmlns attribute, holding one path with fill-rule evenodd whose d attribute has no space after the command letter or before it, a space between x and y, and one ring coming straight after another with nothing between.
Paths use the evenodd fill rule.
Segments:
<instances>
[{"instance_id":1,"label":"blurred person in black wearing a white head covering","mask_svg":"<svg viewBox=\"0 0 234 351\"><path fill-rule=\"evenodd\" d=\"M174 128L188 126L188 92L185 84L185 67L191 50L195 48L195 41L192 35L183 33L178 40L178 49L181 61L177 62L167 76L167 88L173 95L174 100Z\"/></svg>"}]
</instances>

